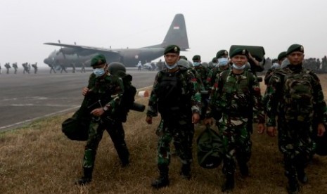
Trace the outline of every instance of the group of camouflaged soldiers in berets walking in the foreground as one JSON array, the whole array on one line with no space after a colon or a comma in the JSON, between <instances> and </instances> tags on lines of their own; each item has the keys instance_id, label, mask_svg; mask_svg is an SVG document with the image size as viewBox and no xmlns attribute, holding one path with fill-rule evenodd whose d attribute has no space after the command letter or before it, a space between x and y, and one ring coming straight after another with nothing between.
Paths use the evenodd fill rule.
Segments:
<instances>
[{"instance_id":1,"label":"group of camouflaged soldiers in berets walking in the foreground","mask_svg":"<svg viewBox=\"0 0 327 194\"><path fill-rule=\"evenodd\" d=\"M224 49L218 51L212 60L212 68L205 67L199 55L193 56L193 63L189 63L179 53L179 46L165 48L165 67L155 76L148 101L146 122L152 124L158 113L161 117L159 126L155 127L159 176L151 186L169 186L172 141L181 159L179 174L182 179L191 179L194 124L202 122L210 126L215 122L222 140L222 173L225 178L222 191L233 190L236 164L243 178L249 176L252 122L257 122L258 134L263 134L267 128L269 136L276 136L278 129L278 147L283 153L288 178L286 188L288 193L299 193L298 182L305 184L308 181L304 169L314 155L315 137L323 136L327 123L319 78L302 64L303 46L293 44L278 56L280 64L272 65L265 77L267 90L264 96L256 75L264 67L246 48L235 48L231 53ZM288 62L283 67L284 60ZM76 182L79 185L91 181L96 149L107 128L110 128L107 131L122 166L129 164L122 120L113 117L124 96L124 84L122 79L115 77L104 56L92 58L91 66L94 73L82 94L103 96L105 90L109 90L110 95L107 103L91 110L84 176ZM125 70L120 73L125 74Z\"/></svg>"}]
</instances>

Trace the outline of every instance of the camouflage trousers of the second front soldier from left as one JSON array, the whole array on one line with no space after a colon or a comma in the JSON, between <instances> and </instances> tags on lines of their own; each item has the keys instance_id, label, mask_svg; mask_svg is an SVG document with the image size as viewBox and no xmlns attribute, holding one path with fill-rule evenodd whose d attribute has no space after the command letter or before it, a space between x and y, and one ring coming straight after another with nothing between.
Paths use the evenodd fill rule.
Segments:
<instances>
[{"instance_id":1,"label":"camouflage trousers of the second front soldier from left","mask_svg":"<svg viewBox=\"0 0 327 194\"><path fill-rule=\"evenodd\" d=\"M161 120L156 132L158 140L158 166L168 166L170 164L170 142L174 141L176 154L181 159L182 164L192 162L192 143L194 136L194 125L189 119L165 122Z\"/></svg>"}]
</instances>

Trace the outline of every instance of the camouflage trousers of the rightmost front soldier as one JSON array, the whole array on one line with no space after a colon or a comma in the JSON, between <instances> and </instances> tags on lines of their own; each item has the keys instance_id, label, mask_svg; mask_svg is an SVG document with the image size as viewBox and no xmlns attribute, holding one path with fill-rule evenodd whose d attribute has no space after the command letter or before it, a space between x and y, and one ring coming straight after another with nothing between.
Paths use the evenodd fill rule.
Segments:
<instances>
[{"instance_id":1,"label":"camouflage trousers of the rightmost front soldier","mask_svg":"<svg viewBox=\"0 0 327 194\"><path fill-rule=\"evenodd\" d=\"M283 153L285 175L292 179L314 155L311 122L278 122L278 147Z\"/></svg>"}]
</instances>

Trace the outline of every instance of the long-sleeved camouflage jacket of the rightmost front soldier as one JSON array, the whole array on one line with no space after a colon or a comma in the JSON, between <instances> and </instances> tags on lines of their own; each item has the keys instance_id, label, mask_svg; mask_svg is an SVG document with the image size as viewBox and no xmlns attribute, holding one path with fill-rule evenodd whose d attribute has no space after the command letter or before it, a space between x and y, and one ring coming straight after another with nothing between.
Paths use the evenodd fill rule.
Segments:
<instances>
[{"instance_id":1,"label":"long-sleeved camouflage jacket of the rightmost front soldier","mask_svg":"<svg viewBox=\"0 0 327 194\"><path fill-rule=\"evenodd\" d=\"M283 69L274 70L274 74L271 75L269 83L267 84L267 91L264 98L267 101L266 111L267 111L267 126L276 126L276 116L281 119L297 119L300 115L307 115L306 119L302 119L304 122L311 122L316 119L319 123L326 123L327 113L326 113L326 103L323 98L323 91L321 89L321 84L319 78L314 74L312 70L304 69L302 66L298 66L296 69L292 67L294 65L288 65ZM309 90L307 86L297 84L297 91L304 91L309 93L307 96L312 96L308 102L305 98L300 97L297 99L297 95L288 95L286 93L287 77L293 75L300 75L301 82L305 83L304 80L309 82ZM308 85L308 84L306 84ZM295 89L292 89L293 91ZM294 101L293 101L294 100ZM290 101L295 102L297 105L290 108L288 105ZM304 107L301 109L301 107ZM309 108L312 107L312 108ZM300 108L300 110L295 110ZM293 112L293 113L292 113ZM296 118L292 115L297 115Z\"/></svg>"}]
</instances>

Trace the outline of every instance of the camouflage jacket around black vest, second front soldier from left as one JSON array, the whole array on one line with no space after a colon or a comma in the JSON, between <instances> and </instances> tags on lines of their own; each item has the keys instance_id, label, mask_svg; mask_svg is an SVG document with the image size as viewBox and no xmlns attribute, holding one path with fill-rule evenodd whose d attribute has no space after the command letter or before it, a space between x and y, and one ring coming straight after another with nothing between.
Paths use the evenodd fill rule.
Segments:
<instances>
[{"instance_id":1,"label":"camouflage jacket around black vest, second front soldier from left","mask_svg":"<svg viewBox=\"0 0 327 194\"><path fill-rule=\"evenodd\" d=\"M181 68L178 71L181 71ZM162 80L162 77L167 72L167 69L161 70L157 73L155 76L155 81L153 82L153 89L150 94L149 102L148 102L148 111L146 115L151 117L158 116L158 101L159 99L159 93L160 91L160 82ZM176 73L176 72L174 72ZM172 74L174 74L172 73ZM188 96L186 98L186 101L183 102L184 104L188 103L191 105L191 111L193 113L199 113L200 114L200 107L201 107L201 94L199 91L198 82L195 79L195 76L190 70L183 70L183 72L180 73L179 82L181 82L181 95L182 96ZM165 92L165 91L163 91Z\"/></svg>"}]
</instances>

